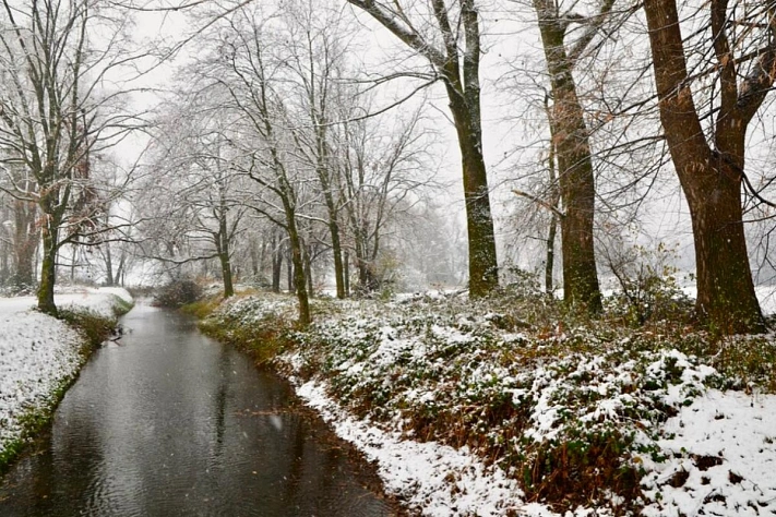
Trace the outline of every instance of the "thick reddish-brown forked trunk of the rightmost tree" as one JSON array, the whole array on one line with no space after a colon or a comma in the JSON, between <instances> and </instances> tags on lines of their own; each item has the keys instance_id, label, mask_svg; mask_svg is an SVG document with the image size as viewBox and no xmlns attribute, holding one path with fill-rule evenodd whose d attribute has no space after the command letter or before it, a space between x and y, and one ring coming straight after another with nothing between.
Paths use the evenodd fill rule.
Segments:
<instances>
[{"instance_id":1,"label":"thick reddish-brown forked trunk of the rightmost tree","mask_svg":"<svg viewBox=\"0 0 776 517\"><path fill-rule=\"evenodd\" d=\"M743 230L741 181L747 125L769 85L764 85L764 91L761 85L750 85L742 88L743 98L739 96L735 59L725 48L725 3L713 1L713 11L715 7L721 8L723 15L717 26L713 15L723 89L714 132L717 149L712 149L706 140L690 89L676 1L647 0L644 11L660 121L692 218L696 315L726 334L763 332L765 324L754 292ZM756 98L760 104L753 105L752 99Z\"/></svg>"}]
</instances>

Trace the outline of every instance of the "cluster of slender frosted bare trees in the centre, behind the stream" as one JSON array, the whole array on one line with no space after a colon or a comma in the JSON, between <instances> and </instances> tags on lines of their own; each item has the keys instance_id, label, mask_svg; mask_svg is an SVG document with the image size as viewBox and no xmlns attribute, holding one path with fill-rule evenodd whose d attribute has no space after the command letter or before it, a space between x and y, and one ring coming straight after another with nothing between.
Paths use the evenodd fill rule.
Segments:
<instances>
[{"instance_id":1,"label":"cluster of slender frosted bare trees in the centre, behind the stream","mask_svg":"<svg viewBox=\"0 0 776 517\"><path fill-rule=\"evenodd\" d=\"M419 112L369 112L370 94L348 75L339 16L303 1L284 3L282 13L243 5L199 35L205 51L180 71L181 93L155 136L142 203L148 221L159 220L145 225L146 250L170 264L207 261L202 247L192 250L192 236L206 233L204 213L219 219L205 197L217 196L216 172L226 173L231 187L220 197L235 221L228 233L247 236L230 241L228 256L238 254L237 269L258 280L270 268L273 290L287 266L302 324L310 321L314 263L324 257L338 297L350 288L350 262L359 290L379 287L384 228L434 171L433 139ZM214 120L222 121L217 130ZM222 267L222 276L228 270Z\"/></svg>"}]
</instances>

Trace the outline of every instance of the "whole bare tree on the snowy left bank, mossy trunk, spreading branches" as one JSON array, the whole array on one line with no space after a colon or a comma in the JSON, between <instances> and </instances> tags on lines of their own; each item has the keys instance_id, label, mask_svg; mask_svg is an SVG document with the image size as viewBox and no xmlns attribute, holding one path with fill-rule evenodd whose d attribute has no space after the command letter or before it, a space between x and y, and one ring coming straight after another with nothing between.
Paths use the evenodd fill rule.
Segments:
<instances>
[{"instance_id":1,"label":"whole bare tree on the snowy left bank, mossy trunk, spreading branches","mask_svg":"<svg viewBox=\"0 0 776 517\"><path fill-rule=\"evenodd\" d=\"M43 260L38 309L57 314L53 301L58 250L96 235L100 194L89 163L128 131L119 112L122 93L103 85L111 69L131 63L122 31L97 1L2 1L0 14L0 147L4 163L25 168L32 181L7 189L40 211ZM91 28L103 50L97 50Z\"/></svg>"}]
</instances>

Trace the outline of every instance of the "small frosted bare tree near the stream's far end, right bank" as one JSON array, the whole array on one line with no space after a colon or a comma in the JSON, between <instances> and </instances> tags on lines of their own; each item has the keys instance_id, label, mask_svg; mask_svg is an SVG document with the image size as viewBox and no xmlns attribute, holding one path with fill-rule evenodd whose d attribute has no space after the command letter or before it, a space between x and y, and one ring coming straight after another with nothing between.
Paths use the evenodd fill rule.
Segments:
<instances>
[{"instance_id":1,"label":"small frosted bare tree near the stream's far end, right bank","mask_svg":"<svg viewBox=\"0 0 776 517\"><path fill-rule=\"evenodd\" d=\"M138 197L147 219L148 257L172 266L215 258L224 297L235 293L232 255L246 208L246 182L235 166L237 149L228 111L181 93L157 120L153 171Z\"/></svg>"}]
</instances>

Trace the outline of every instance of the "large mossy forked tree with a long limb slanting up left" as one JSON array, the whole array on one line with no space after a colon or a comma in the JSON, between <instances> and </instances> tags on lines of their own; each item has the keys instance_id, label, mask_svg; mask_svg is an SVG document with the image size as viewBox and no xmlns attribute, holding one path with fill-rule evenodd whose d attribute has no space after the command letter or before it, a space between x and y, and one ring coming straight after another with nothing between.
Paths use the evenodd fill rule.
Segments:
<instances>
[{"instance_id":1,"label":"large mossy forked tree with a long limb slanting up left","mask_svg":"<svg viewBox=\"0 0 776 517\"><path fill-rule=\"evenodd\" d=\"M369 13L404 45L426 59L431 81L442 80L458 136L469 241L469 292L498 286L496 238L488 176L482 156L480 113L480 27L475 0L381 2L348 0Z\"/></svg>"}]
</instances>

